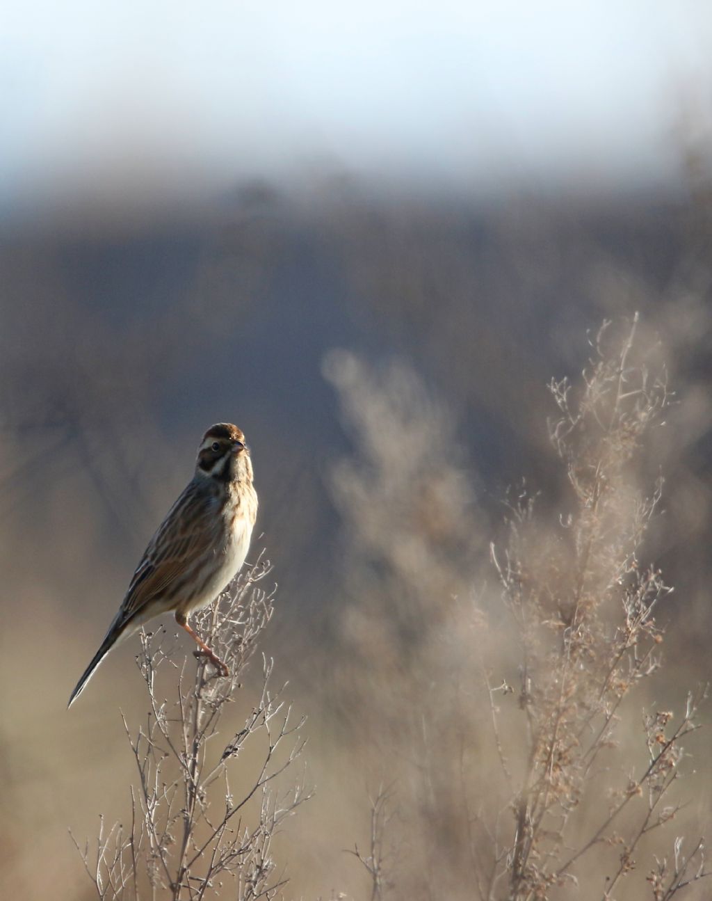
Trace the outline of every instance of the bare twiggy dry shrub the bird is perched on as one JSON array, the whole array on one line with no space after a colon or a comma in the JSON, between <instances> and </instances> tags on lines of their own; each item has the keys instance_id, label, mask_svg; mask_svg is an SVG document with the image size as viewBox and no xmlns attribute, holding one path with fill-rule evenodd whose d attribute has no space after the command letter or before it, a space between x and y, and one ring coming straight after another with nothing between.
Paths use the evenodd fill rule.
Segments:
<instances>
[{"instance_id":1,"label":"bare twiggy dry shrub the bird is perched on","mask_svg":"<svg viewBox=\"0 0 712 901\"><path fill-rule=\"evenodd\" d=\"M273 613L274 590L259 583L265 560L241 575L219 603L195 614L198 631L230 666L216 678L204 657L182 656L166 629L141 633L137 662L149 710L143 724L124 720L137 779L131 826L100 830L79 849L102 899L194 899L226 894L239 901L275 897L284 885L272 842L284 819L309 796L302 781L275 780L302 752L303 721L273 690L273 661L263 657L261 690L244 724L230 728L230 705ZM223 656L225 655L225 656ZM78 848L78 845L77 845Z\"/></svg>"}]
</instances>

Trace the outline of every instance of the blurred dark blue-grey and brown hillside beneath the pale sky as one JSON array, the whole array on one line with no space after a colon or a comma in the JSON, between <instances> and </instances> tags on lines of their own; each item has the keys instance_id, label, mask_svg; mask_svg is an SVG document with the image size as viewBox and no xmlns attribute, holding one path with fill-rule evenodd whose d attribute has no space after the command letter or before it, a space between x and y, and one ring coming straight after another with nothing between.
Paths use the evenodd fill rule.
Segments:
<instances>
[{"instance_id":1,"label":"blurred dark blue-grey and brown hillside beneath the pale sky","mask_svg":"<svg viewBox=\"0 0 712 901\"><path fill-rule=\"evenodd\" d=\"M548 380L581 368L587 330L635 310L660 333L685 409L702 407L673 464L694 473L699 497L710 337L697 199L518 197L482 209L384 202L347 183L307 205L258 184L197 223L6 234L5 508L32 527L44 493L71 479L79 508L83 495L96 505L92 531L133 560L190 475L195 435L235 419L254 447L284 587L320 610L337 523L325 476L349 446L322 375L329 350L416 369L455 414L496 511L518 478L550 487ZM705 506L687 526L699 557L680 575L704 568ZM669 530L686 555L687 528ZM54 570L59 548L46 551ZM704 620L704 605L689 612Z\"/></svg>"}]
</instances>

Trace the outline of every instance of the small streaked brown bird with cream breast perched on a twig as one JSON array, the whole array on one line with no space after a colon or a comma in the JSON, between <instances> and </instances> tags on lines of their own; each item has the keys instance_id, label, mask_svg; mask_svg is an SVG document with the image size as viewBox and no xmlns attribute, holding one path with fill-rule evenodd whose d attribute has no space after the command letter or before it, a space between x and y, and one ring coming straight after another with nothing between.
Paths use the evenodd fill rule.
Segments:
<instances>
[{"instance_id":1,"label":"small streaked brown bird with cream breast perched on a twig","mask_svg":"<svg viewBox=\"0 0 712 901\"><path fill-rule=\"evenodd\" d=\"M144 551L119 612L77 686L68 707L104 657L143 623L173 613L221 676L226 664L194 632L188 616L212 603L230 585L248 554L257 518L257 492L245 435L237 425L217 423L203 435L194 477Z\"/></svg>"}]
</instances>

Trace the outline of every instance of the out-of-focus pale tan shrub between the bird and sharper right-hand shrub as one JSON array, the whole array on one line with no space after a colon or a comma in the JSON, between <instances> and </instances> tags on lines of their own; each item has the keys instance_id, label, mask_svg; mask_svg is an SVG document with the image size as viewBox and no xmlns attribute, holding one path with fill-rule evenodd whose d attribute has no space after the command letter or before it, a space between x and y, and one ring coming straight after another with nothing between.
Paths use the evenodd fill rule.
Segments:
<instances>
[{"instance_id":1,"label":"out-of-focus pale tan shrub between the bird and sharper right-hand shrub","mask_svg":"<svg viewBox=\"0 0 712 901\"><path fill-rule=\"evenodd\" d=\"M391 786L380 814L397 808L377 842L378 867L365 869L378 896L437 889L457 897L467 857L459 749L478 743L462 715L464 674L486 531L455 417L407 364L373 368L339 350L325 375L358 449L332 473L348 593L329 715L342 725L340 747L350 755L342 769L363 774L374 792ZM354 840L360 848L361 836Z\"/></svg>"}]
</instances>

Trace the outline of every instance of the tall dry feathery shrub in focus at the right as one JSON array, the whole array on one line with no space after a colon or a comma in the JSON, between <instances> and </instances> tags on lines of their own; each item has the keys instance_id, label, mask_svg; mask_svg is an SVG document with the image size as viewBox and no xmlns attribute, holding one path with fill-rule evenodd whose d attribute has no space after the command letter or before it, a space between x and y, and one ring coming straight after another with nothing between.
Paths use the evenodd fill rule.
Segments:
<instances>
[{"instance_id":1,"label":"tall dry feathery shrub in focus at the right","mask_svg":"<svg viewBox=\"0 0 712 901\"><path fill-rule=\"evenodd\" d=\"M502 800L515 824L513 833L511 824L498 830L500 821L488 832L495 851L480 881L483 897L499 896L498 883L511 898L546 897L554 887L578 884L577 872L590 896L630 896L626 878L638 869L642 840L650 848L650 833L679 812L671 788L680 777L681 740L698 728L706 694L689 695L677 718L645 711L640 749L627 743L626 718L635 708L626 701L661 666L655 614L671 593L662 574L639 559L662 482L642 495L635 457L664 423L670 398L664 370L650 371L635 344L637 318L623 341L609 335L608 324L593 343L581 389L565 379L551 385L560 413L551 438L572 488L570 513L557 530L543 530L535 505L519 498L506 549L491 549L518 642L521 724L514 777L492 704ZM581 869L586 856L593 869ZM678 849L672 861L643 872L653 896L667 898L707 875L702 862L702 845L694 842L688 859Z\"/></svg>"}]
</instances>

